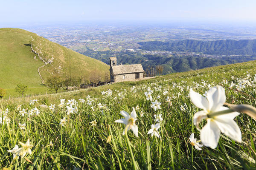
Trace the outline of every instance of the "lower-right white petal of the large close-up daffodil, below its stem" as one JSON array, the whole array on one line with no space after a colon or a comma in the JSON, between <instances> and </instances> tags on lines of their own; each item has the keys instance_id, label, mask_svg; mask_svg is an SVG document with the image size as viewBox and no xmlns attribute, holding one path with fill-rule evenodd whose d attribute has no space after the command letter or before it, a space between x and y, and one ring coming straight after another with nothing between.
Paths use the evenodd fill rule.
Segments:
<instances>
[{"instance_id":1,"label":"lower-right white petal of the large close-up daffodil, below its stem","mask_svg":"<svg viewBox=\"0 0 256 170\"><path fill-rule=\"evenodd\" d=\"M242 142L241 130L234 120L219 118L215 118L214 120L222 133L237 142Z\"/></svg>"}]
</instances>

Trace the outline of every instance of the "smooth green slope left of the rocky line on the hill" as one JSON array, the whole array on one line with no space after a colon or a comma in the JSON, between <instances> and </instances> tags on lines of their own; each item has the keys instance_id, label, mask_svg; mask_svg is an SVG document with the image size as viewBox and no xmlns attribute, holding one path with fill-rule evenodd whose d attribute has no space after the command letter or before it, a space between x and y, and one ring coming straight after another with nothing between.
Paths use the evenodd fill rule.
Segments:
<instances>
[{"instance_id":1,"label":"smooth green slope left of the rocky line on the hill","mask_svg":"<svg viewBox=\"0 0 256 170\"><path fill-rule=\"evenodd\" d=\"M30 87L41 86L37 69L44 62L34 59L29 41L32 35L36 35L28 33L19 29L0 29L1 88L14 88L18 83Z\"/></svg>"}]
</instances>

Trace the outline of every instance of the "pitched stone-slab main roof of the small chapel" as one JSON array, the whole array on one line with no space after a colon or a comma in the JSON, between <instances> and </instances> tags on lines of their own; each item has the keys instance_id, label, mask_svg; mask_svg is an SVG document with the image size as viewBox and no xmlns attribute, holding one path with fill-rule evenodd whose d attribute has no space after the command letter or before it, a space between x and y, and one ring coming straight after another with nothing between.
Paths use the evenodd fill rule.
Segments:
<instances>
[{"instance_id":1,"label":"pitched stone-slab main roof of the small chapel","mask_svg":"<svg viewBox=\"0 0 256 170\"><path fill-rule=\"evenodd\" d=\"M114 65L112 66L112 70L114 75L144 72L141 64Z\"/></svg>"}]
</instances>

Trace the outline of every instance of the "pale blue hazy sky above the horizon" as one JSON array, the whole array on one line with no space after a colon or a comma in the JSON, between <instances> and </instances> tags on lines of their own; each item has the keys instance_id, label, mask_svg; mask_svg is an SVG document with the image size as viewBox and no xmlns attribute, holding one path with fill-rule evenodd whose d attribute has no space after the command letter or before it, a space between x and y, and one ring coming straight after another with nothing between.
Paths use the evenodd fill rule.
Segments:
<instances>
[{"instance_id":1,"label":"pale blue hazy sky above the horizon","mask_svg":"<svg viewBox=\"0 0 256 170\"><path fill-rule=\"evenodd\" d=\"M256 0L1 0L0 23L96 20L256 22Z\"/></svg>"}]
</instances>

